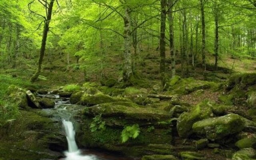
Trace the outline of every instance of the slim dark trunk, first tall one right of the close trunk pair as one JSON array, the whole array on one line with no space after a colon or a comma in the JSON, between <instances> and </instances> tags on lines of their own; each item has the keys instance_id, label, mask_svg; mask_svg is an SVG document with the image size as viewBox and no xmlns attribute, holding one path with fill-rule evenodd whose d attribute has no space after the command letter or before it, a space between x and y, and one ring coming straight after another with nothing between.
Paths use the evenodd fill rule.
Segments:
<instances>
[{"instance_id":1,"label":"slim dark trunk, first tall one right of the close trunk pair","mask_svg":"<svg viewBox=\"0 0 256 160\"><path fill-rule=\"evenodd\" d=\"M200 0L201 6L201 19L202 19L202 65L204 69L204 75L206 74L206 59L205 59L205 20L204 20L204 2Z\"/></svg>"}]
</instances>

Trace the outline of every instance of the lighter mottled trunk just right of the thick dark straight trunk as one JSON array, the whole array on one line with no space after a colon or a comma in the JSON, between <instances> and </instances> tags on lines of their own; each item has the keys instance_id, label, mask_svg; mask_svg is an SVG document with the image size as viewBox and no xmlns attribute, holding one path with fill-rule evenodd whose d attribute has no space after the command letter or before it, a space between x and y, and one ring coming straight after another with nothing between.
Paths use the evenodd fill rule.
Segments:
<instances>
[{"instance_id":1,"label":"lighter mottled trunk just right of the thick dark straight trunk","mask_svg":"<svg viewBox=\"0 0 256 160\"><path fill-rule=\"evenodd\" d=\"M171 54L171 62L172 62L172 74L171 77L173 78L176 74L176 62L175 62L175 52L174 52L174 27L173 27L173 13L172 13L172 5L173 0L168 0L169 4L169 12L168 12L168 18L169 18L169 32L170 32L170 54Z\"/></svg>"}]
</instances>

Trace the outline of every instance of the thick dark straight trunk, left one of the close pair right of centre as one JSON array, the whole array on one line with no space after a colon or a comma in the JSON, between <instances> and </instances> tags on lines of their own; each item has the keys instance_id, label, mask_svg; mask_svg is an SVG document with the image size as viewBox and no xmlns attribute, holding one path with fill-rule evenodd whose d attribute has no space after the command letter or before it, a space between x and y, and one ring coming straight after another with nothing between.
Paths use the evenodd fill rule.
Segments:
<instances>
[{"instance_id":1,"label":"thick dark straight trunk, left one of the close pair right of centre","mask_svg":"<svg viewBox=\"0 0 256 160\"><path fill-rule=\"evenodd\" d=\"M162 86L164 86L165 77L165 28L166 28L166 0L161 0L161 26L160 26L160 74Z\"/></svg>"}]
</instances>

